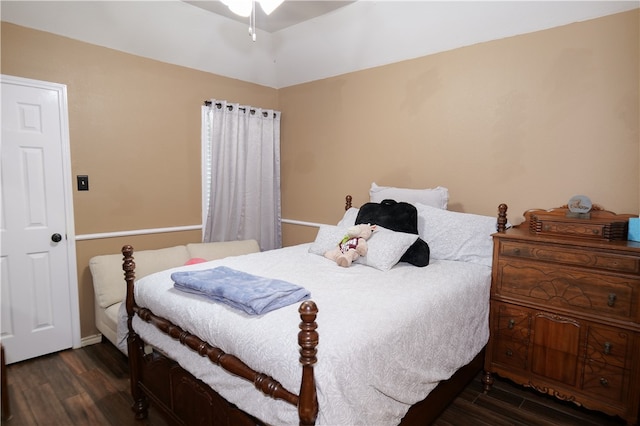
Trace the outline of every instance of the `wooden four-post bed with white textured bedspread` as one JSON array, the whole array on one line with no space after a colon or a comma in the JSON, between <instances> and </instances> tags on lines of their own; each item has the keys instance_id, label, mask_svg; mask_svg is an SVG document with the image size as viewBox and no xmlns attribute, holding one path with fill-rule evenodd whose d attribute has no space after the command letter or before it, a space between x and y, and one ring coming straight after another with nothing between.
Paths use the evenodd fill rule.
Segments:
<instances>
[{"instance_id":1,"label":"wooden four-post bed with white textured bedspread","mask_svg":"<svg viewBox=\"0 0 640 426\"><path fill-rule=\"evenodd\" d=\"M431 250L428 266L367 264L379 244L389 250L384 233L374 234L364 261L348 268L318 255L323 232L338 232L363 211L351 207L350 197L340 223L321 227L313 243L187 265L139 281L134 250L124 246L135 416L145 418L151 402L172 423L185 425L433 421L482 367L490 234L506 228L506 206L500 205L496 220L412 205L419 215L416 238L424 235ZM388 237L397 234L405 233L390 230ZM412 247L403 244L405 251ZM443 252L442 246L451 247ZM174 286L176 272L220 267L295 283L310 298L252 315Z\"/></svg>"}]
</instances>

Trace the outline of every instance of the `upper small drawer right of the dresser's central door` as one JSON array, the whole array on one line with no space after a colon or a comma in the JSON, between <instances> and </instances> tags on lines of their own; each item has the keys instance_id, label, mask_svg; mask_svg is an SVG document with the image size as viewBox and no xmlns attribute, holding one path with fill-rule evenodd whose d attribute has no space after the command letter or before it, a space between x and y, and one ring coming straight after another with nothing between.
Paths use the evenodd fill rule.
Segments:
<instances>
[{"instance_id":1,"label":"upper small drawer right of the dresser's central door","mask_svg":"<svg viewBox=\"0 0 640 426\"><path fill-rule=\"evenodd\" d=\"M587 360L625 368L631 340L632 335L625 330L591 325L587 332Z\"/></svg>"}]
</instances>

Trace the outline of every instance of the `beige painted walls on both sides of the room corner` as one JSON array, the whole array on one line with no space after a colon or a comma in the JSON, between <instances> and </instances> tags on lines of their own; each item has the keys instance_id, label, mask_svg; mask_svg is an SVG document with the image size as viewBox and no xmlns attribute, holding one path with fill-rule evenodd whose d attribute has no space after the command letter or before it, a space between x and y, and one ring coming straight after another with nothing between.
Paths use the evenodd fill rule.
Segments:
<instances>
[{"instance_id":1,"label":"beige painted walls on both sides of the room corner","mask_svg":"<svg viewBox=\"0 0 640 426\"><path fill-rule=\"evenodd\" d=\"M77 235L200 223L200 105L282 111L283 217L335 223L372 181L446 186L495 214L586 194L638 213L638 10L280 90L2 24L3 74L67 85ZM285 245L316 230L285 225ZM82 336L96 333L88 259L197 241L198 231L77 243Z\"/></svg>"}]
</instances>

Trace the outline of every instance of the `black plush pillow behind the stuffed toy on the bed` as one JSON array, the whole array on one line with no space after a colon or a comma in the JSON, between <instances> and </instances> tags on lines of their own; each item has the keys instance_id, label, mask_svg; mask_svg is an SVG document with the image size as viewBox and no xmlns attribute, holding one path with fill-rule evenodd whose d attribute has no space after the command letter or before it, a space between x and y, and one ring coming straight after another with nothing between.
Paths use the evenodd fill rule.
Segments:
<instances>
[{"instance_id":1,"label":"black plush pillow behind the stuffed toy on the bed","mask_svg":"<svg viewBox=\"0 0 640 426\"><path fill-rule=\"evenodd\" d=\"M381 203L365 203L360 207L356 224L370 223L396 232L418 234L418 211L415 206L405 202L383 200ZM407 249L401 262L415 266L429 264L429 245L421 238Z\"/></svg>"}]
</instances>

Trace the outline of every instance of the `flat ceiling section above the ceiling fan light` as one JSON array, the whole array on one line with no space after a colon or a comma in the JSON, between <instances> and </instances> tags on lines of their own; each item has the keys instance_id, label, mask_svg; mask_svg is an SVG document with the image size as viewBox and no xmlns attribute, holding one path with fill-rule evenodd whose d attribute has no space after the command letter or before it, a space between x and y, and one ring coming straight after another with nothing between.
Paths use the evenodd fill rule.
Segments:
<instances>
[{"instance_id":1,"label":"flat ceiling section above the ceiling fan light","mask_svg":"<svg viewBox=\"0 0 640 426\"><path fill-rule=\"evenodd\" d=\"M238 16L231 12L220 0L183 0L193 6L208 10L221 16L233 19L238 22L248 24L249 18ZM256 3L256 27L268 33L274 33L282 29L291 27L309 19L339 9L343 6L353 3L351 1L332 1L332 0L285 0L276 10L267 16L260 6Z\"/></svg>"}]
</instances>

